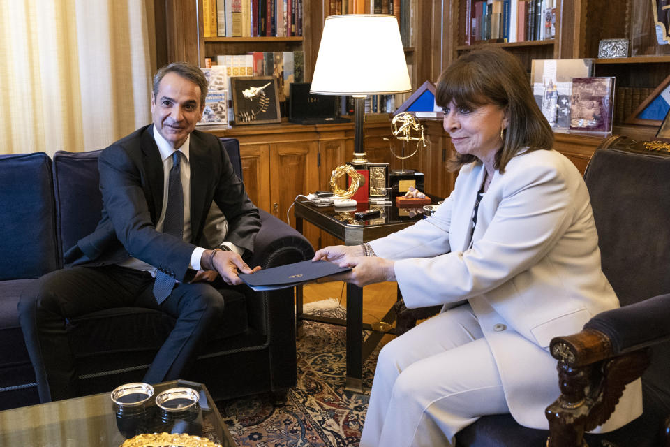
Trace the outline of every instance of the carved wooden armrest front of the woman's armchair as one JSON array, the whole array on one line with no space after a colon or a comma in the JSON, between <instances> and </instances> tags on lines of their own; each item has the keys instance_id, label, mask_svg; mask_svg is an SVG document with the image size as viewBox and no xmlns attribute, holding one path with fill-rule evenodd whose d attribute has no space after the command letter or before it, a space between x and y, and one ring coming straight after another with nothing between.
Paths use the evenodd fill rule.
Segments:
<instances>
[{"instance_id":1,"label":"carved wooden armrest front of the woman's armchair","mask_svg":"<svg viewBox=\"0 0 670 447\"><path fill-rule=\"evenodd\" d=\"M609 419L627 383L649 365L648 349L616 356L611 341L599 330L556 337L551 355L558 360L561 395L547 407L549 447L586 446L584 432Z\"/></svg>"}]
</instances>

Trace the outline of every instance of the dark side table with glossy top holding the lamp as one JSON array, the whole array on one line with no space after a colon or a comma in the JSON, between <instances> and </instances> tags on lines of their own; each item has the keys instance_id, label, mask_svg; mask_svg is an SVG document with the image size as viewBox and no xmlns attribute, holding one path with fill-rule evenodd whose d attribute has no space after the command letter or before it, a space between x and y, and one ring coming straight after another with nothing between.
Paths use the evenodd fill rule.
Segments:
<instances>
[{"instance_id":1,"label":"dark side table with glossy top holding the lamp","mask_svg":"<svg viewBox=\"0 0 670 447\"><path fill-rule=\"evenodd\" d=\"M357 209L336 209L329 207L316 207L308 200L295 200L295 228L302 233L303 221L308 221L314 226L325 230L342 240L345 245L357 245L368 242L379 237L395 233L405 227L414 225L423 219L424 214L417 210L403 210L395 205L373 205L361 203ZM380 217L369 221L357 221L354 212L379 208L382 212ZM345 211L348 210L348 211ZM401 298L398 289L398 299ZM302 288L296 288L296 318L300 320L320 321L347 327L347 378L345 389L362 393L363 391L363 362L375 346L380 342L386 332L373 330L371 325L363 323L363 289L353 284L347 284L347 319L305 315L302 312ZM382 318L385 323L393 323L396 315L393 309ZM363 343L363 330L372 330L372 334Z\"/></svg>"}]
</instances>

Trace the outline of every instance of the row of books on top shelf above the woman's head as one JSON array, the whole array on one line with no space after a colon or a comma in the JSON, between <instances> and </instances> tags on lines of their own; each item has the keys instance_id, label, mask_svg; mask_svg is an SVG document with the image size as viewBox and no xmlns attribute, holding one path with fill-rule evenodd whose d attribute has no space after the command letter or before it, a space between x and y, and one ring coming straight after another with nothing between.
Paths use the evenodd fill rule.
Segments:
<instances>
[{"instance_id":1,"label":"row of books on top shelf above the woman's head","mask_svg":"<svg viewBox=\"0 0 670 447\"><path fill-rule=\"evenodd\" d=\"M465 43L556 37L556 0L464 0Z\"/></svg>"}]
</instances>

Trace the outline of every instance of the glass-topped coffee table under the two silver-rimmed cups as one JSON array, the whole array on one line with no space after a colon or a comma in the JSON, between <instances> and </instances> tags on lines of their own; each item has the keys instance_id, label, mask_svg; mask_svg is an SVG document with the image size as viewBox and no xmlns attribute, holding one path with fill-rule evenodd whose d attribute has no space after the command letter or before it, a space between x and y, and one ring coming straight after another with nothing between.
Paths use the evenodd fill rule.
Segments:
<instances>
[{"instance_id":1,"label":"glass-topped coffee table under the two silver-rimmed cups","mask_svg":"<svg viewBox=\"0 0 670 447\"><path fill-rule=\"evenodd\" d=\"M110 393L0 411L0 446L118 447L126 438L144 432L188 433L223 447L235 446L204 385L183 380L159 383L154 386L154 397L163 390L182 386L193 388L200 395L200 411L184 419L164 421L151 399L149 417L138 424L117 416Z\"/></svg>"}]
</instances>

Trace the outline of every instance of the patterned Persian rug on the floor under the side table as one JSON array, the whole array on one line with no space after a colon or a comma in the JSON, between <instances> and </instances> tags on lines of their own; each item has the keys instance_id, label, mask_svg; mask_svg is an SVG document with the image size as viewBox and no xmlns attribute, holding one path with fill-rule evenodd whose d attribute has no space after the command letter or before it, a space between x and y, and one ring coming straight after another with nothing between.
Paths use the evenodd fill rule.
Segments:
<instances>
[{"instance_id":1,"label":"patterned Persian rug on the floor under the side table","mask_svg":"<svg viewBox=\"0 0 670 447\"><path fill-rule=\"evenodd\" d=\"M346 309L329 299L304 306L308 314L345 318ZM283 406L268 395L218 402L238 446L358 446L377 360L377 349L364 363L364 394L344 389L345 328L303 322L297 340L298 381Z\"/></svg>"}]
</instances>

